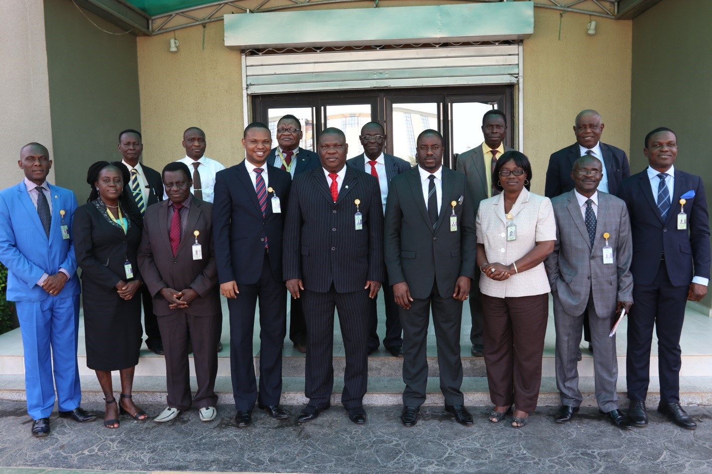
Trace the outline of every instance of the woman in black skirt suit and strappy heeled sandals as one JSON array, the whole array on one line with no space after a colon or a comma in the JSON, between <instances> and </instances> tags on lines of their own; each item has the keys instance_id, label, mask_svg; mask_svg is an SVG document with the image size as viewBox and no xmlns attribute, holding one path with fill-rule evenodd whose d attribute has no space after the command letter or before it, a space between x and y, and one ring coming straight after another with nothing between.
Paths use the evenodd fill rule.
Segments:
<instances>
[{"instance_id":1,"label":"woman in black skirt suit and strappy heeled sandals","mask_svg":"<svg viewBox=\"0 0 712 474\"><path fill-rule=\"evenodd\" d=\"M82 269L82 302L87 367L96 372L104 392L104 426L118 428L118 415L148 418L131 399L134 369L142 342L141 287L136 260L142 220L122 194L130 179L121 162L96 162L89 167L92 187L87 204L74 214L74 251ZM111 371L118 370L121 397L113 394Z\"/></svg>"}]
</instances>

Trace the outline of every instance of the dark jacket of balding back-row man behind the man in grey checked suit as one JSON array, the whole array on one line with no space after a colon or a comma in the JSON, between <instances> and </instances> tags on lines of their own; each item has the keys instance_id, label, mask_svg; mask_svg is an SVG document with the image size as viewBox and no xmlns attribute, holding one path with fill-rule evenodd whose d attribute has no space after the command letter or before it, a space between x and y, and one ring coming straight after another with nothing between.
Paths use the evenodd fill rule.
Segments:
<instances>
[{"instance_id":1,"label":"dark jacket of balding back-row man behind the man in grey checked suit","mask_svg":"<svg viewBox=\"0 0 712 474\"><path fill-rule=\"evenodd\" d=\"M608 193L617 194L621 181L630 176L628 157L620 148L603 142L600 144L603 166L606 167L608 177ZM574 162L580 157L581 150L577 143L551 154L549 167L546 170L544 196L553 198L574 189L571 169L574 167Z\"/></svg>"}]
</instances>

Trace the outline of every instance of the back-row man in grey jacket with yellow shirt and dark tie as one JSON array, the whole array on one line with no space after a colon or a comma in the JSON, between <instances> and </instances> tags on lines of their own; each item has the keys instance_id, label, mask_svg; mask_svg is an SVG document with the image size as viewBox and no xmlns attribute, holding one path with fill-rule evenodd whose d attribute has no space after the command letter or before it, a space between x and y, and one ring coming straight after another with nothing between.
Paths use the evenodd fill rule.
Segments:
<instances>
[{"instance_id":1,"label":"back-row man in grey jacket with yellow shirt and dark tie","mask_svg":"<svg viewBox=\"0 0 712 474\"><path fill-rule=\"evenodd\" d=\"M467 187L470 190L472 209L477 214L480 201L492 197L493 193L499 191L492 187L492 170L497 159L504 152L513 148L503 144L507 132L507 116L501 110L488 110L482 117L482 134L485 141L461 154L457 159L456 169L463 172L467 177ZM470 314L472 317L472 330L470 331L470 342L472 343L472 355L483 357L484 347L482 339L483 310L482 300L479 291L480 273L475 272L472 282L473 292L470 294Z\"/></svg>"}]
</instances>

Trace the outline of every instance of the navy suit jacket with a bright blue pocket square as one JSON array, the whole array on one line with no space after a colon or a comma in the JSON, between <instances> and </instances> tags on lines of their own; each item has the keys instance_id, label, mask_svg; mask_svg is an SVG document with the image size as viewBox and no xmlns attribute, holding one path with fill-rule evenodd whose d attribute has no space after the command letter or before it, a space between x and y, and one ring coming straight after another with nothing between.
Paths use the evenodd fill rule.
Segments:
<instances>
[{"instance_id":1,"label":"navy suit jacket with a bright blue pocket square","mask_svg":"<svg viewBox=\"0 0 712 474\"><path fill-rule=\"evenodd\" d=\"M686 199L687 230L677 229L680 196L695 191ZM625 179L618 191L628 206L633 235L633 282L649 285L658 273L665 253L668 277L674 286L686 286L693 276L710 277L710 229L707 199L702 179L675 169L670 210L665 221L660 217L657 196L653 196L647 168Z\"/></svg>"}]
</instances>

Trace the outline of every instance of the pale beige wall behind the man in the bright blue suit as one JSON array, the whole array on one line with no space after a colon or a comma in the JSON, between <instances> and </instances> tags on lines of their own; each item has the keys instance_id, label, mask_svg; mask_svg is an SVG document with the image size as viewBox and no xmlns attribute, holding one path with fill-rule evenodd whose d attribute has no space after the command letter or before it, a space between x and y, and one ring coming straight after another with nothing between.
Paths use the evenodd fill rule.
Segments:
<instances>
[{"instance_id":1,"label":"pale beige wall behind the man in the bright blue suit","mask_svg":"<svg viewBox=\"0 0 712 474\"><path fill-rule=\"evenodd\" d=\"M47 51L42 0L4 1L0 20L0 130L5 145L0 189L24 175L20 148L40 142L52 155ZM54 181L54 170L48 178Z\"/></svg>"}]
</instances>

